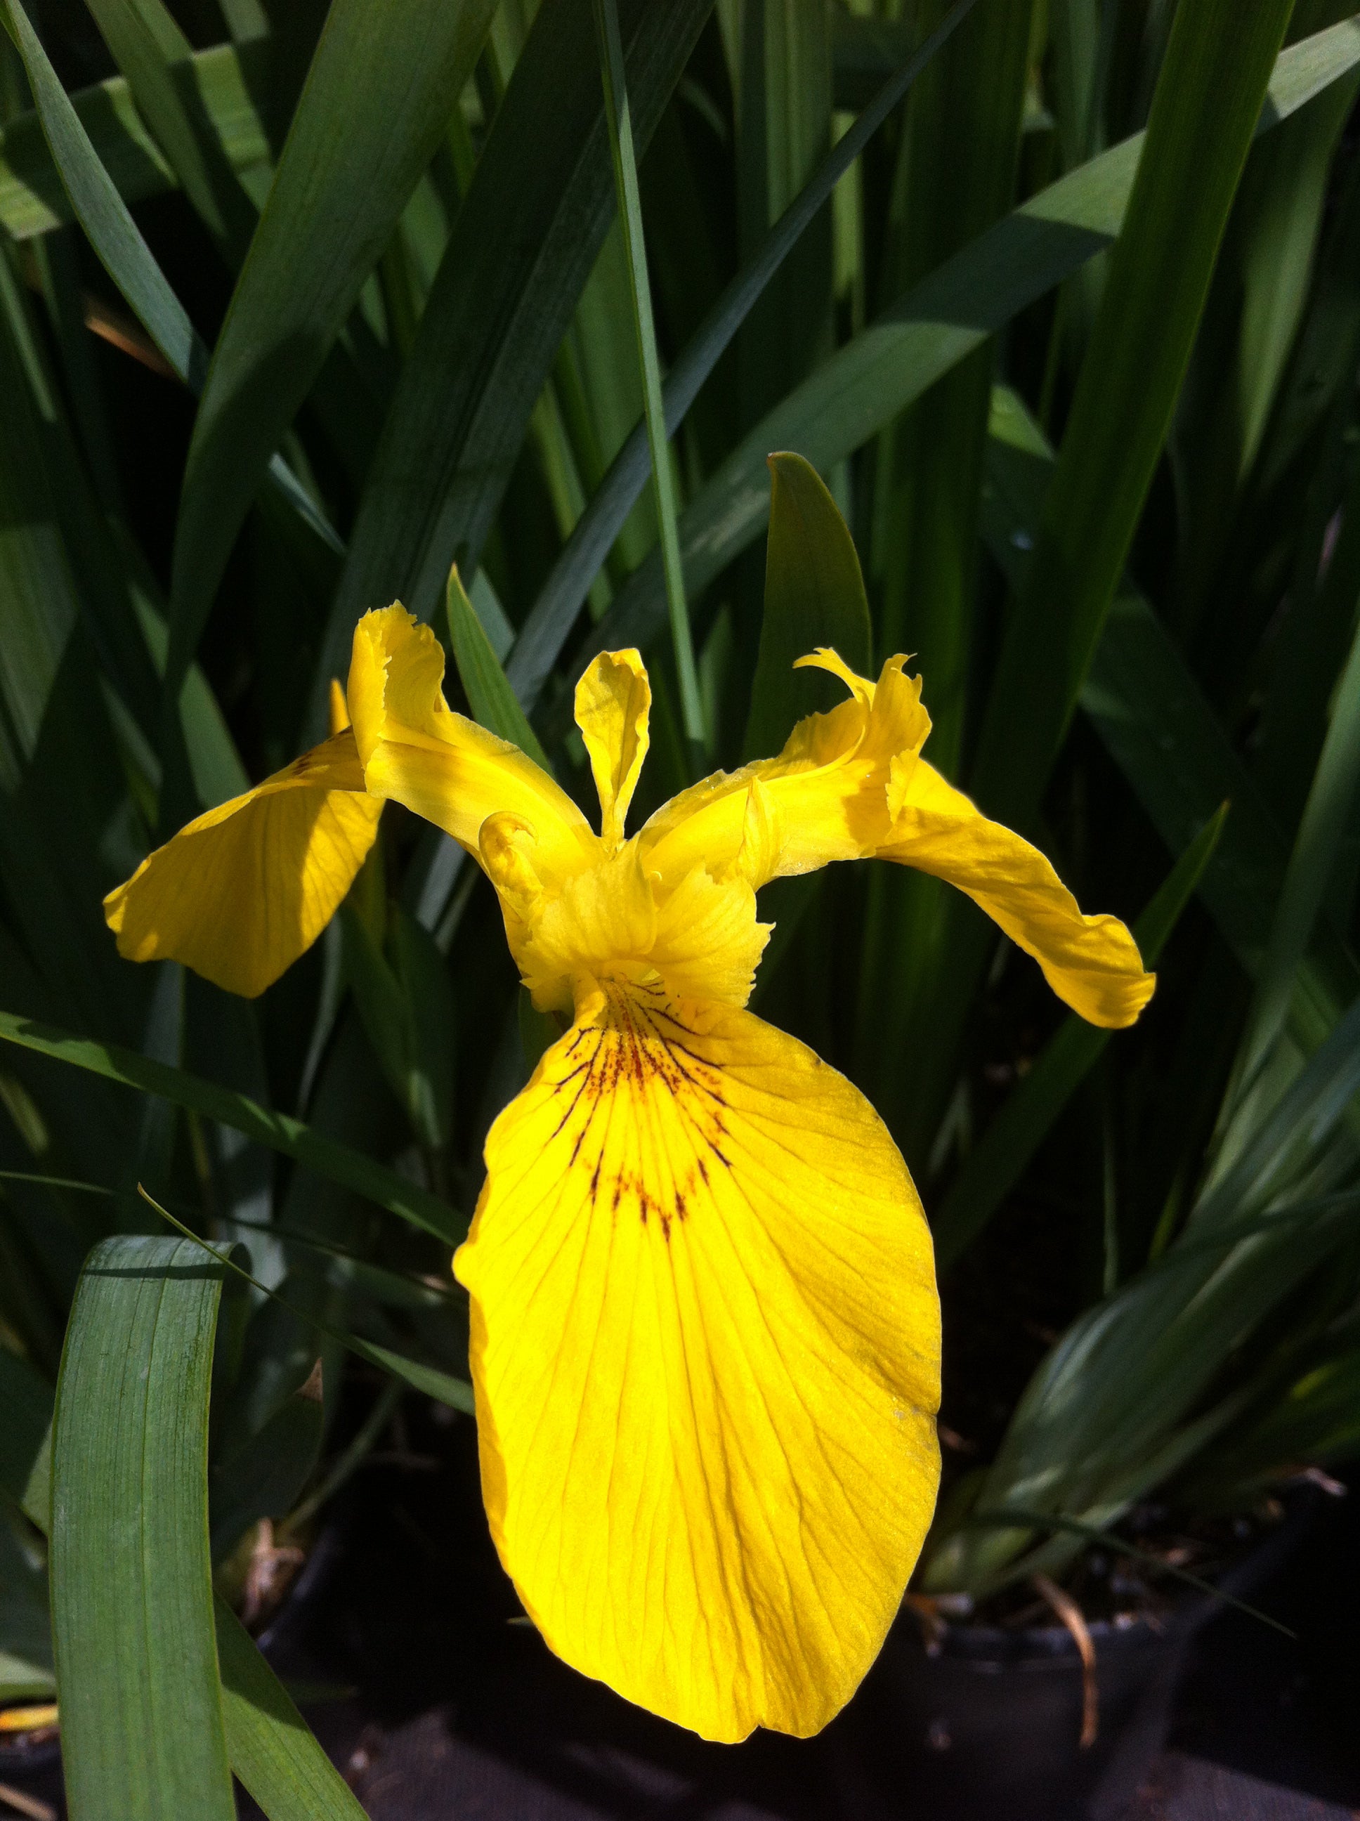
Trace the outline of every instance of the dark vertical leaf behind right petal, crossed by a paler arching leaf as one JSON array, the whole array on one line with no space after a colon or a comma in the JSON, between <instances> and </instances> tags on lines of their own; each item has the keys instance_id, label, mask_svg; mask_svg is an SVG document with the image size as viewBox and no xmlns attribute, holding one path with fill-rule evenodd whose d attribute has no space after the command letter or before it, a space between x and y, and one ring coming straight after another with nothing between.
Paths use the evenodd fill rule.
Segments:
<instances>
[{"instance_id":1,"label":"dark vertical leaf behind right petal, crossed by a paler arching leaf","mask_svg":"<svg viewBox=\"0 0 1360 1821\"><path fill-rule=\"evenodd\" d=\"M939 0L929 0L927 18ZM1014 204L1030 75L1030 4L981 7L912 95L898 142L885 268L894 293L923 280ZM1061 33L1060 9L1052 24ZM1058 58L1054 56L1054 62ZM1056 71L1054 71L1056 82ZM949 146L950 155L939 157ZM1076 162L1076 160L1074 160ZM987 344L959 361L878 439L868 566L879 605L878 645L910 650L930 707L930 763L958 778L976 652L978 492L996 366ZM854 1074L888 1125L918 1149L912 1127L936 1096L921 1093L914 1033L947 972L949 903L939 881L910 867L876 869L859 956ZM903 1058L918 1053L910 1067ZM949 1053L936 1053L949 1069Z\"/></svg>"}]
</instances>

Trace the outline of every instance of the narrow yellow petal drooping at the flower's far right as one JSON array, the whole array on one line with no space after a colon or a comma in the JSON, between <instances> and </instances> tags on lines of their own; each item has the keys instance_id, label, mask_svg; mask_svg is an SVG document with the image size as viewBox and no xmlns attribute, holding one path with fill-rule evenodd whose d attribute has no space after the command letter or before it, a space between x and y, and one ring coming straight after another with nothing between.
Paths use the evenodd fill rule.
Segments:
<instances>
[{"instance_id":1,"label":"narrow yellow petal drooping at the flower's far right","mask_svg":"<svg viewBox=\"0 0 1360 1821\"><path fill-rule=\"evenodd\" d=\"M989 821L925 759L914 767L878 854L958 885L1091 1023L1131 1025L1152 998L1156 974L1143 972L1125 925L1114 916L1083 916L1038 847Z\"/></svg>"}]
</instances>

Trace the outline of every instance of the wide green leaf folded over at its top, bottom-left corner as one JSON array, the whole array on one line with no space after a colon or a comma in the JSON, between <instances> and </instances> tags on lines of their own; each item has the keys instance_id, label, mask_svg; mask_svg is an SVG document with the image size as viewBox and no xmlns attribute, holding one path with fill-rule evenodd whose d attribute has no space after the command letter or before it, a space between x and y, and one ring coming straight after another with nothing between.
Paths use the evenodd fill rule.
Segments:
<instances>
[{"instance_id":1,"label":"wide green leaf folded over at its top, bottom-left corner","mask_svg":"<svg viewBox=\"0 0 1360 1821\"><path fill-rule=\"evenodd\" d=\"M80 1821L233 1821L208 1557L220 1262L184 1240L95 1247L53 1435L62 1763Z\"/></svg>"}]
</instances>

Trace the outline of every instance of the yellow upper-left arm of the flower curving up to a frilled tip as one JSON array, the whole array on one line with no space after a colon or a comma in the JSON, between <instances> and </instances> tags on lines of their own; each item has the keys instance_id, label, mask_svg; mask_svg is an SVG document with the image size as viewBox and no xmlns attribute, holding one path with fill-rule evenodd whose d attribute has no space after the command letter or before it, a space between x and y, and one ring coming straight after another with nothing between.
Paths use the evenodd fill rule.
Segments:
<instances>
[{"instance_id":1,"label":"yellow upper-left arm of the flower curving up to a frilled tip","mask_svg":"<svg viewBox=\"0 0 1360 1821\"><path fill-rule=\"evenodd\" d=\"M532 830L544 878L570 878L599 839L568 794L508 739L444 701L444 652L404 606L355 626L348 699L368 788L453 836L470 854L488 816L510 810Z\"/></svg>"}]
</instances>

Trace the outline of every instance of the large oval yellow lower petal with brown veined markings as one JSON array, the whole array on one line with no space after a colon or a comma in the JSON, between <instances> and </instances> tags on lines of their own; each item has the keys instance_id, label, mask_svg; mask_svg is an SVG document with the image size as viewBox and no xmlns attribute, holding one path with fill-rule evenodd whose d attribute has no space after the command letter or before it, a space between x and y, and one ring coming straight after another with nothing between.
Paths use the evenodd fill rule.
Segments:
<instances>
[{"instance_id":1,"label":"large oval yellow lower petal with brown veined markings","mask_svg":"<svg viewBox=\"0 0 1360 1821\"><path fill-rule=\"evenodd\" d=\"M930 1238L868 1102L748 1012L608 983L486 1142L482 1491L548 1644L708 1739L874 1661L939 1473Z\"/></svg>"}]
</instances>

